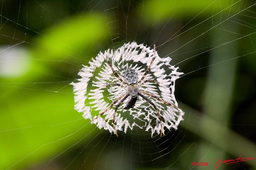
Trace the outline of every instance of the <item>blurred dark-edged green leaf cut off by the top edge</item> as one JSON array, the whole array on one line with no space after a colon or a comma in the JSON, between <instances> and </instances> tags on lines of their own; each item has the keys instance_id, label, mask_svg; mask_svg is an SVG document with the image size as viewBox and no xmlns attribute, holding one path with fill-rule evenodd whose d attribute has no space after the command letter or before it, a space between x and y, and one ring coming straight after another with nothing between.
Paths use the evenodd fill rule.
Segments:
<instances>
[{"instance_id":1,"label":"blurred dark-edged green leaf cut off by the top edge","mask_svg":"<svg viewBox=\"0 0 256 170\"><path fill-rule=\"evenodd\" d=\"M189 19L198 14L203 18L209 18L222 10L226 13L234 11L235 8L232 8L231 3L236 2L229 0L150 0L137 9L137 14L142 16L143 21L148 24L166 22L170 20L170 17L172 20Z\"/></svg>"}]
</instances>

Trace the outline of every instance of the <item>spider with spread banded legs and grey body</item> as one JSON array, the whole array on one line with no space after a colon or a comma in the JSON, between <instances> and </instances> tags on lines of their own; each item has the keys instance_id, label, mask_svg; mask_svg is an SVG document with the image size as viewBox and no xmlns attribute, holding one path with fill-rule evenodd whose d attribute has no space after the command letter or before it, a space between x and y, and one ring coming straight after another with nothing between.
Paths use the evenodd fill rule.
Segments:
<instances>
[{"instance_id":1,"label":"spider with spread banded legs and grey body","mask_svg":"<svg viewBox=\"0 0 256 170\"><path fill-rule=\"evenodd\" d=\"M114 104L119 102L116 105L114 116L113 116L113 119L112 119L113 129L114 129L114 132L116 133L116 136L118 137L118 134L117 134L116 128L115 128L115 118L116 118L116 111L117 111L118 107L124 102L124 100L126 100L126 98L131 96L130 100L124 106L124 109L131 109L131 108L133 108L135 106L136 101L138 100L138 96L140 96L140 97L142 97L144 100L146 100L149 104L151 104L154 107L154 109L156 111L156 114L158 116L158 119L160 121L160 126L161 126L160 137L162 137L162 133L163 133L162 118L160 116L160 113L159 113L156 105L150 99L148 99L146 96L155 98L158 101L160 101L160 102L162 102L162 103L164 103L164 104L166 104L168 106L172 106L172 107L175 107L177 109L179 109L179 107L174 106L174 105L172 105L172 104L170 104L168 102L165 102L164 100L160 99L159 97L157 97L157 96L155 96L153 94L150 94L150 93L147 93L147 92L143 92L142 90L140 90L140 87L143 86L143 84L145 84L146 82L155 82L156 84L159 84L156 80L144 80L144 78L146 77L146 75L148 74L148 72L150 70L150 67L152 66L152 64L153 64L153 62L155 60L156 45L154 45L154 57L152 58L151 63L148 66L148 69L146 70L146 72L144 73L144 75L142 76L142 78L139 81L138 81L138 73L135 72L134 69L130 69L130 68L128 68L127 70L124 71L124 75L123 75L124 80L122 80L122 78L116 73L116 71L114 70L112 64L109 61L109 51L110 51L110 49L108 49L107 63L110 66L110 68L112 69L112 72L114 73L114 75L125 86L123 86L122 84L119 84L119 83L106 84L106 86L120 86L121 88L126 89L126 92L124 94L122 94L122 96L120 96L119 98L114 100L114 102L112 102L112 104L110 104L110 106L106 110L104 110L102 113L100 113L100 115L98 115L97 117L92 119L90 122L92 122L95 119L97 119L98 117L102 116L104 113L106 113L106 111L108 111L112 106L114 106ZM144 96L144 95L146 95L146 96Z\"/></svg>"}]
</instances>

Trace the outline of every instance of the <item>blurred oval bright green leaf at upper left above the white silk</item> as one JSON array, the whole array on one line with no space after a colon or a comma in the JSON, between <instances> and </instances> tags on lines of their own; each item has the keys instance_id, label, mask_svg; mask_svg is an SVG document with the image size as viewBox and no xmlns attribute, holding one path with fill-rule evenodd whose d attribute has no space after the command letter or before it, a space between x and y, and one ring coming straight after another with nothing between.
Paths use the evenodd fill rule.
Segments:
<instances>
[{"instance_id":1,"label":"blurred oval bright green leaf at upper left above the white silk","mask_svg":"<svg viewBox=\"0 0 256 170\"><path fill-rule=\"evenodd\" d=\"M73 16L48 28L37 41L34 51L40 59L63 59L89 50L102 39L110 37L108 16L90 13Z\"/></svg>"}]
</instances>

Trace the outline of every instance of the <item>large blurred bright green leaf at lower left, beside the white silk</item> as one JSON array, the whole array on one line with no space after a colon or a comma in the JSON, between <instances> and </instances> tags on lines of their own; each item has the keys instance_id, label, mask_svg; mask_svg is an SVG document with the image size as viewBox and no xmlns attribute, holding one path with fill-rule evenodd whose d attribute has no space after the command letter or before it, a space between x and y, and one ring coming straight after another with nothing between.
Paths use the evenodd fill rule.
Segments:
<instances>
[{"instance_id":1,"label":"large blurred bright green leaf at lower left, beside the white silk","mask_svg":"<svg viewBox=\"0 0 256 170\"><path fill-rule=\"evenodd\" d=\"M60 88L60 84L54 88ZM1 169L12 165L11 169L24 169L22 166L28 167L43 159L50 161L48 158L98 133L92 131L95 126L89 120L74 110L72 93L49 90L28 96L31 89L17 91L4 98L6 103L2 102L5 107L0 114ZM72 86L68 86L67 91L72 92Z\"/></svg>"}]
</instances>

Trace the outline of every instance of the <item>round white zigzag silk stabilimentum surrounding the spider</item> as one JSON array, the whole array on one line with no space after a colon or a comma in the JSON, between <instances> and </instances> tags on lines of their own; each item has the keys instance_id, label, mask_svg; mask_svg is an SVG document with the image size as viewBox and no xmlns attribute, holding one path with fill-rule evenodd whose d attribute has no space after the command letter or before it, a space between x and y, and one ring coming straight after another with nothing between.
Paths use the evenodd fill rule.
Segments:
<instances>
[{"instance_id":1,"label":"round white zigzag silk stabilimentum surrounding the spider","mask_svg":"<svg viewBox=\"0 0 256 170\"><path fill-rule=\"evenodd\" d=\"M126 89L120 86L106 86L106 84L113 83L126 86L113 74L112 69L107 63L107 57L107 51L100 52L95 59L88 63L88 66L83 65L83 68L78 73L82 78L78 79L78 82L71 83L74 86L75 109L83 113L84 119L94 119L106 110L114 100L126 92ZM143 44L137 45L136 42L124 44L116 51L110 50L109 53L110 63L122 80L124 80L123 72L127 68L131 68L138 73L139 81L146 72L153 57L154 49ZM154 63L144 80L155 80L159 84L156 84L156 82L146 82L140 87L140 91L158 96L165 102L178 106L174 96L174 86L175 80L183 73L178 71L178 67L170 65L170 57L162 59L158 56L157 52L155 57ZM166 70L170 74L167 75ZM184 112L181 109L168 106L156 98L146 97L156 105L162 118L163 129L177 129L178 124L183 120ZM116 131L124 131L126 133L128 128L133 129L134 126L138 126L146 131L151 131L152 136L154 133L160 134L160 120L154 107L139 97L134 108L123 109L129 100L130 96L117 109L115 118ZM92 123L95 123L100 129L104 128L114 133L112 119L117 104L118 102L102 116L92 121Z\"/></svg>"}]
</instances>

